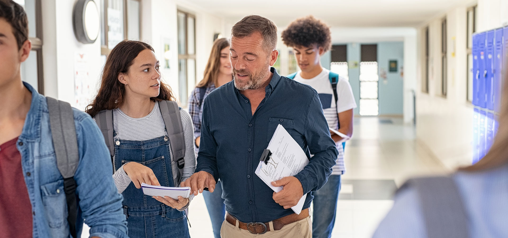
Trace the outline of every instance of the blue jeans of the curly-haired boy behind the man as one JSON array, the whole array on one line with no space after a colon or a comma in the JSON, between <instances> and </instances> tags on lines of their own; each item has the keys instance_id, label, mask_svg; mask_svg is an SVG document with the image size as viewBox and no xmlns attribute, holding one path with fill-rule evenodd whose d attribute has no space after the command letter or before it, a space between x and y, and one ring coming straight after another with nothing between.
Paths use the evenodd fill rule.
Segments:
<instances>
[{"instance_id":1,"label":"blue jeans of the curly-haired boy behind the man","mask_svg":"<svg viewBox=\"0 0 508 238\"><path fill-rule=\"evenodd\" d=\"M340 175L331 175L325 186L312 193L314 211L312 212L312 237L330 238L340 191Z\"/></svg>"}]
</instances>

